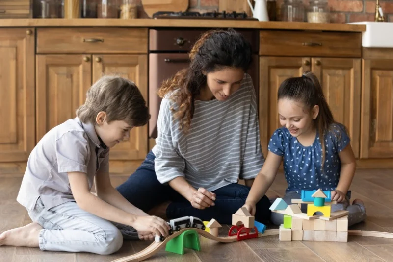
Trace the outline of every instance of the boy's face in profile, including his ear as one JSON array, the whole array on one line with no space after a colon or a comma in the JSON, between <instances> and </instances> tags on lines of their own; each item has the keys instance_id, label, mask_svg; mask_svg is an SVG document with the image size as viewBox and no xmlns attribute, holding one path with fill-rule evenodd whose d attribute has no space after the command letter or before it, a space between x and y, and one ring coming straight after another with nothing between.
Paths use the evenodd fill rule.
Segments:
<instances>
[{"instance_id":1,"label":"boy's face in profile, including his ear","mask_svg":"<svg viewBox=\"0 0 393 262\"><path fill-rule=\"evenodd\" d=\"M105 117L97 115L96 132L107 147L113 147L123 140L129 140L132 127L125 121L115 120L108 123Z\"/></svg>"}]
</instances>

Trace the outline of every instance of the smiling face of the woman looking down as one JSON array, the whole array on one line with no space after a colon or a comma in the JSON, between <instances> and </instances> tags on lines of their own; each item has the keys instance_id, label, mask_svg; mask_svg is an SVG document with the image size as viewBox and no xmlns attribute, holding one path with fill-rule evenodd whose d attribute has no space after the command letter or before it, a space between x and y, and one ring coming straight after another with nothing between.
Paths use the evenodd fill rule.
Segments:
<instances>
[{"instance_id":1,"label":"smiling face of the woman looking down","mask_svg":"<svg viewBox=\"0 0 393 262\"><path fill-rule=\"evenodd\" d=\"M225 67L206 74L208 84L208 96L217 100L225 101L240 88L244 71L241 68Z\"/></svg>"}]
</instances>

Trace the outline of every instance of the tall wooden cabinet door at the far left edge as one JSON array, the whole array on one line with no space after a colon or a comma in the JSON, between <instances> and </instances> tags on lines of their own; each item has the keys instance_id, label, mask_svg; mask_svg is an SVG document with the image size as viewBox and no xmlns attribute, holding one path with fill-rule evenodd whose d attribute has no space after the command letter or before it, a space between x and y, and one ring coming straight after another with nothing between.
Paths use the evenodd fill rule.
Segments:
<instances>
[{"instance_id":1,"label":"tall wooden cabinet door at the far left edge","mask_svg":"<svg viewBox=\"0 0 393 262\"><path fill-rule=\"evenodd\" d=\"M35 145L34 30L0 29L0 162L27 161Z\"/></svg>"}]
</instances>

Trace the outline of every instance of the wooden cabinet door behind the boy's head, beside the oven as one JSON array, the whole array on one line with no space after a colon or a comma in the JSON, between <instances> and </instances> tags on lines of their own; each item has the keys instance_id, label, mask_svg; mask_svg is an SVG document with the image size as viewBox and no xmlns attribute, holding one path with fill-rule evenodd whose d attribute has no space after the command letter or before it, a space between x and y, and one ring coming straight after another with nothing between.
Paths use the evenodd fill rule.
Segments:
<instances>
[{"instance_id":1,"label":"wooden cabinet door behind the boy's head, beside the oven","mask_svg":"<svg viewBox=\"0 0 393 262\"><path fill-rule=\"evenodd\" d=\"M147 101L147 55L93 55L93 82L115 74L135 82ZM129 141L110 149L111 160L144 159L147 154L147 125L131 129Z\"/></svg>"}]
</instances>

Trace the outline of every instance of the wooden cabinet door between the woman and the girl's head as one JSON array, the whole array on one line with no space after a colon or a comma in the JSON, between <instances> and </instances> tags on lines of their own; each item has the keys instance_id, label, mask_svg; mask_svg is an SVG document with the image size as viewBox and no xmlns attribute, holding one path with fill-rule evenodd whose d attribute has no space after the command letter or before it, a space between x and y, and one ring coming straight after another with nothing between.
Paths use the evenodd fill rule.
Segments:
<instances>
[{"instance_id":1,"label":"wooden cabinet door between the woman and the girl's head","mask_svg":"<svg viewBox=\"0 0 393 262\"><path fill-rule=\"evenodd\" d=\"M280 127L277 111L277 91L289 77L298 77L311 70L310 58L260 57L259 125L264 156L274 130Z\"/></svg>"}]
</instances>

